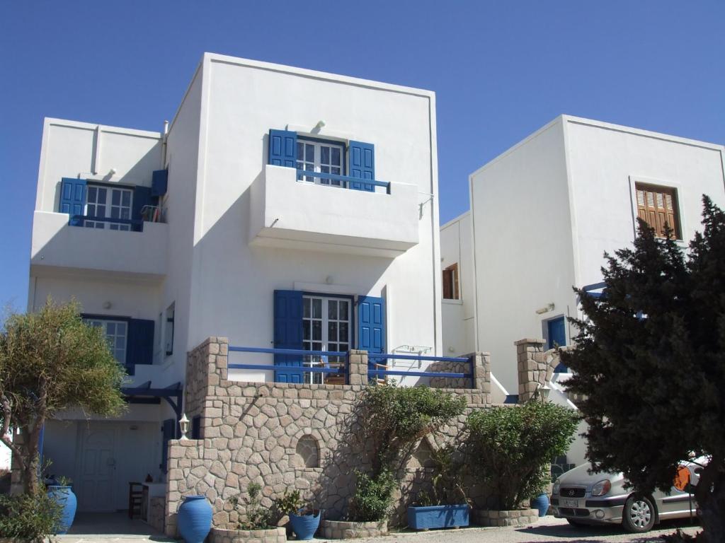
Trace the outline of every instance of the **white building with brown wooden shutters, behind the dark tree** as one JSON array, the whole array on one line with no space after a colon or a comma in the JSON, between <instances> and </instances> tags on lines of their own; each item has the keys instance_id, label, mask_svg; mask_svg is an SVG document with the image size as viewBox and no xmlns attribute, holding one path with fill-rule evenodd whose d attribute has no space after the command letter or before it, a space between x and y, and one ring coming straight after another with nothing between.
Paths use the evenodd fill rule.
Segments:
<instances>
[{"instance_id":1,"label":"white building with brown wooden shutters, behind the dark tree","mask_svg":"<svg viewBox=\"0 0 725 543\"><path fill-rule=\"evenodd\" d=\"M444 300L445 348L490 352L515 394L513 343L571 343L572 286L602 280L602 254L631 245L637 216L660 232L669 222L684 247L700 228L703 193L725 206L724 152L563 115L473 172L471 211L441 232L442 269L460 264L460 302Z\"/></svg>"}]
</instances>

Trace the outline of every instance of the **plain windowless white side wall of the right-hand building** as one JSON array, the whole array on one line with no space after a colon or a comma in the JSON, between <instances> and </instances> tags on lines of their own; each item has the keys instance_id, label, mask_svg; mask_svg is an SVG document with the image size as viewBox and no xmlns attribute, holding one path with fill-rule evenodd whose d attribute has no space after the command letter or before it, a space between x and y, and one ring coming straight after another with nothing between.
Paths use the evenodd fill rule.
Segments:
<instances>
[{"instance_id":1,"label":"plain windowless white side wall of the right-hand building","mask_svg":"<svg viewBox=\"0 0 725 543\"><path fill-rule=\"evenodd\" d=\"M542 320L576 311L572 231L560 119L471 174L476 350L518 392L516 348ZM538 308L554 303L539 315Z\"/></svg>"}]
</instances>

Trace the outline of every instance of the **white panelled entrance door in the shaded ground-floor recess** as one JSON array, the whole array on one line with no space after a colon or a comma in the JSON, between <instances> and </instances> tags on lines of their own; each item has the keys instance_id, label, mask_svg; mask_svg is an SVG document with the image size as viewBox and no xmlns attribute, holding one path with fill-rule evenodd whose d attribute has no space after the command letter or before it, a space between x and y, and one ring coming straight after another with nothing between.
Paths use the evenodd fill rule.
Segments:
<instances>
[{"instance_id":1,"label":"white panelled entrance door in the shaded ground-floor recess","mask_svg":"<svg viewBox=\"0 0 725 543\"><path fill-rule=\"evenodd\" d=\"M115 428L112 424L80 423L83 434L80 445L79 511L115 511L114 456Z\"/></svg>"}]
</instances>

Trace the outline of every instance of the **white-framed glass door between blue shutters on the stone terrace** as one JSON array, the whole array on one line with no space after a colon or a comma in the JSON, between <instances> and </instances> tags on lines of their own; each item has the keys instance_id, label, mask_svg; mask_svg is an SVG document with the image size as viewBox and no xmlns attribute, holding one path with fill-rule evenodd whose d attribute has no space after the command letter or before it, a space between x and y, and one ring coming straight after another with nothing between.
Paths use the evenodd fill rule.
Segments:
<instances>
[{"instance_id":1,"label":"white-framed glass door between blue shutters on the stone terrace","mask_svg":"<svg viewBox=\"0 0 725 543\"><path fill-rule=\"evenodd\" d=\"M305 295L302 298L302 348L347 352L352 337L352 300ZM344 358L306 356L305 366L339 367ZM324 383L325 374L305 373L306 383Z\"/></svg>"}]
</instances>

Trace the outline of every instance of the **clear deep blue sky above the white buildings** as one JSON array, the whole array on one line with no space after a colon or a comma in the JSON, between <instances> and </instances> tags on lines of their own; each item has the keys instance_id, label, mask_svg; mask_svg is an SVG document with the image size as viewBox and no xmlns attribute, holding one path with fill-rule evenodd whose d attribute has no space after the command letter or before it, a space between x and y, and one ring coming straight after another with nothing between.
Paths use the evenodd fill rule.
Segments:
<instances>
[{"instance_id":1,"label":"clear deep blue sky above the white buildings","mask_svg":"<svg viewBox=\"0 0 725 543\"><path fill-rule=\"evenodd\" d=\"M440 216L558 114L725 140L725 0L0 1L0 305L25 309L43 117L161 130L203 51L437 93Z\"/></svg>"}]
</instances>

